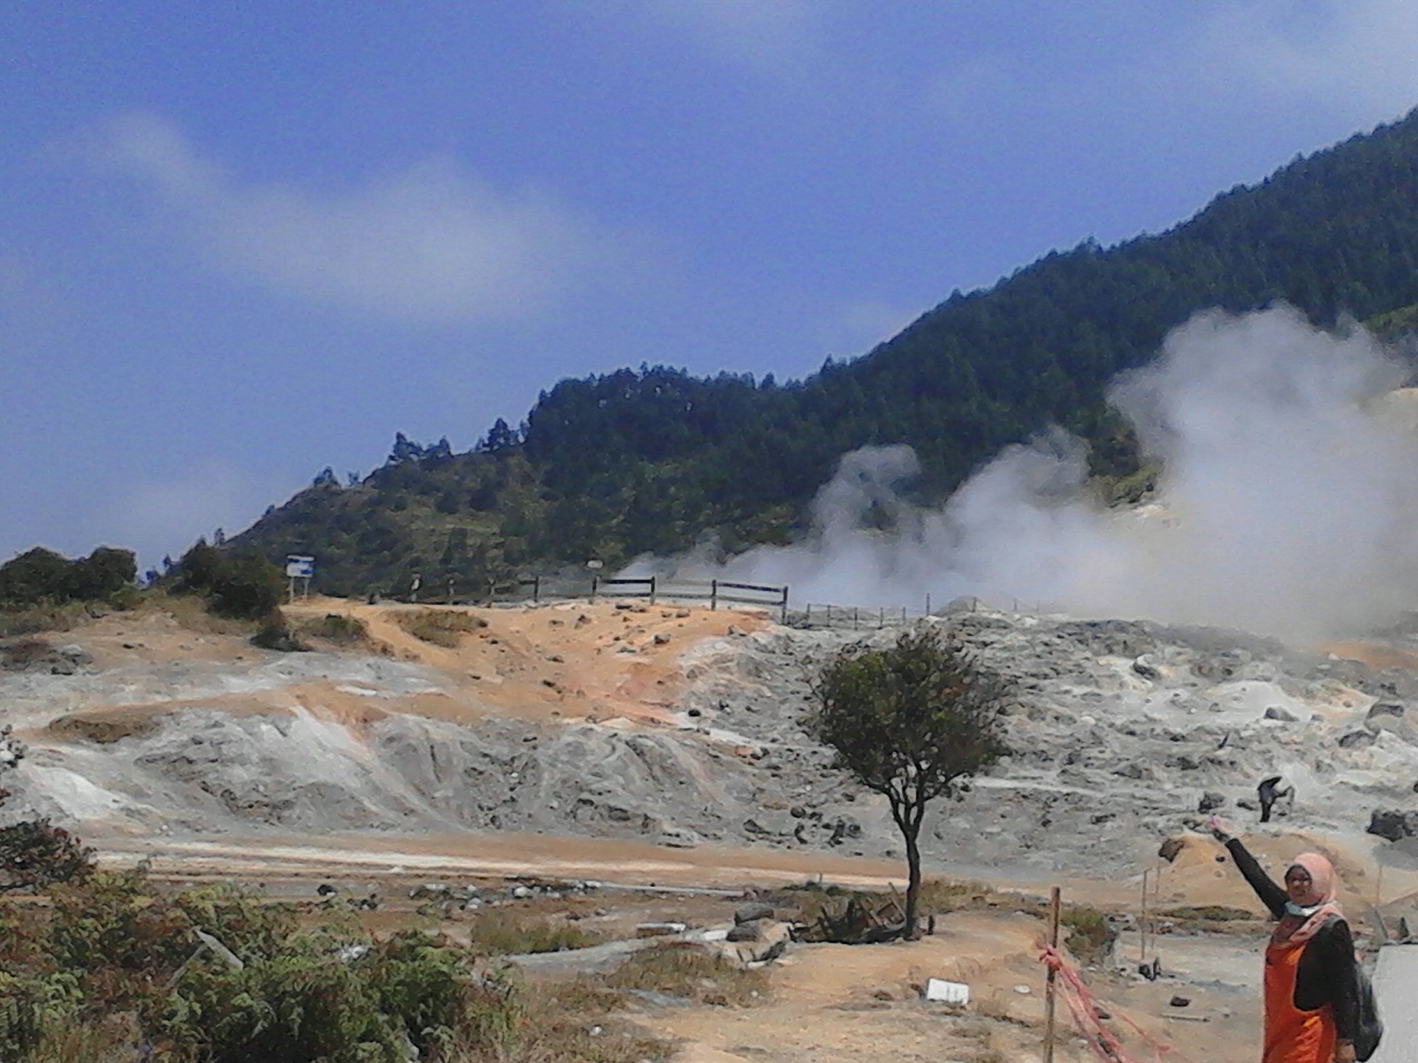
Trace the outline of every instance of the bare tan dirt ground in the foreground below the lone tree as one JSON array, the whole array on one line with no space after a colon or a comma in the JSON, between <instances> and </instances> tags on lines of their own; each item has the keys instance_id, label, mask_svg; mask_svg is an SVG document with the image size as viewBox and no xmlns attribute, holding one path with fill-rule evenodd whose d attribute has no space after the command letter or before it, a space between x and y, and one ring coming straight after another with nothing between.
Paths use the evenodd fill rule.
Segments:
<instances>
[{"instance_id":1,"label":"bare tan dirt ground in the foreground below the lone tree","mask_svg":"<svg viewBox=\"0 0 1418 1063\"><path fill-rule=\"evenodd\" d=\"M1020 913L956 913L917 943L807 945L774 969L767 1003L746 1009L665 1009L641 1022L685 1040L676 1063L1032 1063L1044 1036L1042 924ZM1251 957L1259 968L1259 954ZM925 1003L926 978L970 985L971 1005L957 1013ZM1117 1018L1110 1028L1137 1059L1151 1059L1136 1023L1174 1059L1252 1063L1259 1052L1259 994L1215 991L1204 981L1174 978L1137 984L1086 975ZM1184 994L1185 1009L1171 998ZM1072 1030L1059 1003L1059 1063L1095 1056Z\"/></svg>"}]
</instances>

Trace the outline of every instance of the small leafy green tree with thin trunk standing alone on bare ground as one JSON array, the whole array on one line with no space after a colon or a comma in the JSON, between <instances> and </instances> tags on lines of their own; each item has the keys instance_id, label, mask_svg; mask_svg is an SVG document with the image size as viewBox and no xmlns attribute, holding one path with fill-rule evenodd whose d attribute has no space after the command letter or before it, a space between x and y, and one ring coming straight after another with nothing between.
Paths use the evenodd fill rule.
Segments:
<instances>
[{"instance_id":1,"label":"small leafy green tree with thin trunk standing alone on bare ground","mask_svg":"<svg viewBox=\"0 0 1418 1063\"><path fill-rule=\"evenodd\" d=\"M902 934L913 937L926 805L1008 751L1000 719L1008 685L959 638L922 626L886 649L848 646L814 693L813 734L837 751L838 767L891 802L909 872Z\"/></svg>"}]
</instances>

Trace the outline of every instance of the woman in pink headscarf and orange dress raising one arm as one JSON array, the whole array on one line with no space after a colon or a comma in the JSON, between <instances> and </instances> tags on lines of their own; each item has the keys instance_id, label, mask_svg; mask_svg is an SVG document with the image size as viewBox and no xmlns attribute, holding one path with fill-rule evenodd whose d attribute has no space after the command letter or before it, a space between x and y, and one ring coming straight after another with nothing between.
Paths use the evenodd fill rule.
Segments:
<instances>
[{"instance_id":1,"label":"woman in pink headscarf and orange dress raising one arm","mask_svg":"<svg viewBox=\"0 0 1418 1063\"><path fill-rule=\"evenodd\" d=\"M1334 866L1319 853L1300 853L1282 887L1221 821L1212 819L1211 831L1279 920L1265 948L1261 1063L1354 1063L1354 938L1334 901Z\"/></svg>"}]
</instances>

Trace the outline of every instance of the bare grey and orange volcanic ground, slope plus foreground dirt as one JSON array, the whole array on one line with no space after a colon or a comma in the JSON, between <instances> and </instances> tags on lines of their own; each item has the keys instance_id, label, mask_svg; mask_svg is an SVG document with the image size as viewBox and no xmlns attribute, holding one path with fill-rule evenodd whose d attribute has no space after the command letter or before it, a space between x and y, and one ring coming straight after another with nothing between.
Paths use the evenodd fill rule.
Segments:
<instances>
[{"instance_id":1,"label":"bare grey and orange volcanic ground, slope plus foreground dirt","mask_svg":"<svg viewBox=\"0 0 1418 1063\"><path fill-rule=\"evenodd\" d=\"M50 636L51 653L0 670L0 723L28 746L6 777L16 795L6 815L50 815L111 859L152 855L174 874L296 892L330 876L525 870L661 886L903 877L883 801L834 771L803 729L815 669L852 641L885 645L896 631L554 602L459 609L471 629L447 648L408 634L400 621L414 611L299 604L296 622L339 614L369 631L356 645L312 639L303 653L160 612L113 612ZM1205 806L1244 825L1263 859L1330 852L1351 910L1418 886L1411 839L1366 833L1375 809L1415 802L1418 625L1295 649L1238 632L997 609L926 622L950 625L1015 686L1012 754L932 808L927 873L1035 894L1062 883L1122 910L1136 907L1150 870L1154 906L1254 910L1197 831ZM1246 805L1269 774L1293 782L1296 799L1261 826ZM1167 838L1185 842L1173 863L1157 855ZM1035 916L1005 906L940 928L919 945L790 955L761 1013L642 1019L686 1039L685 1059L885 1059L862 1053L888 1042L892 1059L939 1059L939 1023L909 1011L908 986L953 972L993 994L1005 1028L1037 1022L1037 998L1012 988L1037 974ZM1254 944L1163 945L1210 1009L1211 1026L1191 1037L1210 1057L1254 1054ZM1134 947L1124 937L1119 955ZM1136 978L1113 986L1159 1032L1166 1002L1149 994L1163 991ZM1004 1057L1027 1059L1034 1035L1005 1028L973 1043L994 1037Z\"/></svg>"}]
</instances>

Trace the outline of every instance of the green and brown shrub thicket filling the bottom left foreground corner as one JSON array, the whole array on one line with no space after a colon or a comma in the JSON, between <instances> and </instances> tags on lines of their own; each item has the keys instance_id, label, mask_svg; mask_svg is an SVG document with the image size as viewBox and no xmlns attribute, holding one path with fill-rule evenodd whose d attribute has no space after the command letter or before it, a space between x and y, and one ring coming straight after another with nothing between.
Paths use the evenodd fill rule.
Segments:
<instances>
[{"instance_id":1,"label":"green and brown shrub thicket filling the bottom left foreground corner","mask_svg":"<svg viewBox=\"0 0 1418 1063\"><path fill-rule=\"evenodd\" d=\"M637 1063L669 1046L605 1026L617 999L529 995L513 968L353 918L301 933L289 904L230 886L164 890L146 870L0 904L0 1060L128 1063ZM196 930L224 950L200 950ZM352 945L354 945L352 948ZM230 951L240 967L224 958ZM594 1019L591 1019L594 1016Z\"/></svg>"}]
</instances>

